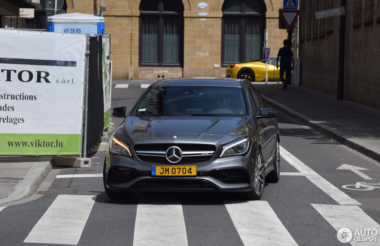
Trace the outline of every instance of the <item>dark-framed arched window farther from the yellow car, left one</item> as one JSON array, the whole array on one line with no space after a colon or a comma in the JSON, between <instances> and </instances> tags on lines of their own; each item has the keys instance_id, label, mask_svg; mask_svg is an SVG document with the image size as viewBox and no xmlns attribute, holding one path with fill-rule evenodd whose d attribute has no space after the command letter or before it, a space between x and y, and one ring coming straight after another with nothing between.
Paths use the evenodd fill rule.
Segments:
<instances>
[{"instance_id":1,"label":"dark-framed arched window farther from the yellow car, left one","mask_svg":"<svg viewBox=\"0 0 380 246\"><path fill-rule=\"evenodd\" d=\"M182 66L184 6L180 0L142 0L139 65Z\"/></svg>"}]
</instances>

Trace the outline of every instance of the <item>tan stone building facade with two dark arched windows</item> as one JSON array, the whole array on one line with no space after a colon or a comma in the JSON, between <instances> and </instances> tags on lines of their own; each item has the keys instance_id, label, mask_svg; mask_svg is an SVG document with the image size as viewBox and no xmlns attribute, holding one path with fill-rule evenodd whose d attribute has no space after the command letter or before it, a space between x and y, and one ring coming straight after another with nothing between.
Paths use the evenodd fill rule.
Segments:
<instances>
[{"instance_id":1,"label":"tan stone building facade with two dark arched windows","mask_svg":"<svg viewBox=\"0 0 380 246\"><path fill-rule=\"evenodd\" d=\"M99 0L65 0L66 13L101 14ZM272 57L283 0L103 0L113 79L225 76L228 63Z\"/></svg>"}]
</instances>

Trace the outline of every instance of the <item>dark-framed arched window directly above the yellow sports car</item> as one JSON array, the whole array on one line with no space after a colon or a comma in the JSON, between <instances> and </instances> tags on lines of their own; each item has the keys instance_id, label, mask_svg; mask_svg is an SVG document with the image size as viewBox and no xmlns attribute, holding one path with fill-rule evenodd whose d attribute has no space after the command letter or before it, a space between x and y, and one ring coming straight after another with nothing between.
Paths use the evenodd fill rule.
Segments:
<instances>
[{"instance_id":1,"label":"dark-framed arched window directly above the yellow sports car","mask_svg":"<svg viewBox=\"0 0 380 246\"><path fill-rule=\"evenodd\" d=\"M265 5L261 0L225 0L222 18L222 64L262 58Z\"/></svg>"}]
</instances>

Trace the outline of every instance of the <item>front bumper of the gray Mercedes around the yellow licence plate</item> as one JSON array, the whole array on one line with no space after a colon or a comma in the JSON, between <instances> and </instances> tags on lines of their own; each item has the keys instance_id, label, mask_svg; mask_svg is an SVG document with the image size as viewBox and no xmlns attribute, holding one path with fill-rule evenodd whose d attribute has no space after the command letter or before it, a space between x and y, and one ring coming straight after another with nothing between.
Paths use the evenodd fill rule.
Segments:
<instances>
[{"instance_id":1,"label":"front bumper of the gray Mercedes around the yellow licence plate","mask_svg":"<svg viewBox=\"0 0 380 246\"><path fill-rule=\"evenodd\" d=\"M106 185L107 188L115 191L245 192L252 189L250 184L253 176L253 167L251 168L253 164L249 163L249 155L192 164L192 166L197 166L195 177L155 177L150 173L151 166L155 166L155 164L141 163L133 158L126 159L119 155L109 155L109 162Z\"/></svg>"}]
</instances>

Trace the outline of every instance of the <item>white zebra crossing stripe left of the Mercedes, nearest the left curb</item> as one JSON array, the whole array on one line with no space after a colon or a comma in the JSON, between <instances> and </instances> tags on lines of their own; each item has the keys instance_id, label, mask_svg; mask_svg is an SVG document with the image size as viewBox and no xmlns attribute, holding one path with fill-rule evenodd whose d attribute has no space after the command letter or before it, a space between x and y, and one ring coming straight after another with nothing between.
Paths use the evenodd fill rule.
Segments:
<instances>
[{"instance_id":1,"label":"white zebra crossing stripe left of the Mercedes, nearest the left curb","mask_svg":"<svg viewBox=\"0 0 380 246\"><path fill-rule=\"evenodd\" d=\"M77 245L95 196L58 195L24 243Z\"/></svg>"}]
</instances>

